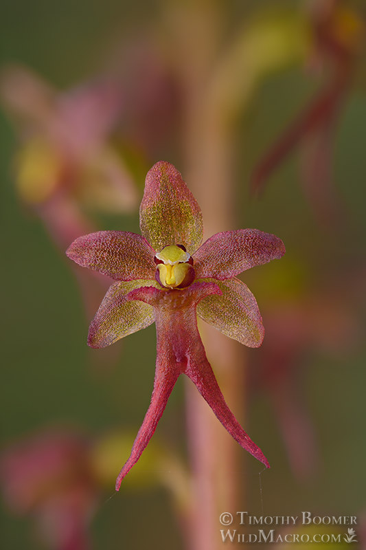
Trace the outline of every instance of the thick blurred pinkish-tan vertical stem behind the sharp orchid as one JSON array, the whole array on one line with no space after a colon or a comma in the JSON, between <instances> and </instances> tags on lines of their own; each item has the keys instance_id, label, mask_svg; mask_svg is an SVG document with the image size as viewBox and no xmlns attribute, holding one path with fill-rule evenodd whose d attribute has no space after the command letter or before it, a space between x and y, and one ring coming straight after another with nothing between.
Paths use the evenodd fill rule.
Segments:
<instances>
[{"instance_id":1,"label":"thick blurred pinkish-tan vertical stem behind the sharp orchid","mask_svg":"<svg viewBox=\"0 0 366 550\"><path fill-rule=\"evenodd\" d=\"M186 181L203 211L205 239L236 227L233 215L233 136L226 113L210 100L214 83L215 48L218 45L220 14L209 13L205 2L191 5L179 17L176 54L183 75L185 103L182 113L183 168ZM215 5L216 8L216 5ZM186 25L184 25L186 21ZM185 31L189 26L190 41ZM244 369L239 344L200 325L207 358L214 367L225 399L243 421ZM233 511L239 500L239 447L222 429L190 381L186 385L187 437L192 467L192 520L190 550L216 550L222 545L219 516ZM242 503L242 496L240 497Z\"/></svg>"}]
</instances>

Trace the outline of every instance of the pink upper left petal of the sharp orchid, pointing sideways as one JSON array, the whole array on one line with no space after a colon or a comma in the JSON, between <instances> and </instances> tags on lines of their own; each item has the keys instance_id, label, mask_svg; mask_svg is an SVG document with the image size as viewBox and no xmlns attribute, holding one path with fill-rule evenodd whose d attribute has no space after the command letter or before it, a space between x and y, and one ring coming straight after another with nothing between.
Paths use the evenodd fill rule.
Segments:
<instances>
[{"instance_id":1,"label":"pink upper left petal of the sharp orchid, pointing sideways","mask_svg":"<svg viewBox=\"0 0 366 550\"><path fill-rule=\"evenodd\" d=\"M66 254L82 267L89 267L117 281L155 278L155 250L136 233L89 233L73 241Z\"/></svg>"}]
</instances>

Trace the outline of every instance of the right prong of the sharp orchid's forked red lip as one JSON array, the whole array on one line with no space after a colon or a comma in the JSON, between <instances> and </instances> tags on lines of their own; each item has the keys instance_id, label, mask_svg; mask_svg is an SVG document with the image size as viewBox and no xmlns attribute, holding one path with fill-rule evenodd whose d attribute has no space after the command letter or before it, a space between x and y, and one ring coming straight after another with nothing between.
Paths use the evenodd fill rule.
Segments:
<instances>
[{"instance_id":1,"label":"right prong of the sharp orchid's forked red lip","mask_svg":"<svg viewBox=\"0 0 366 550\"><path fill-rule=\"evenodd\" d=\"M250 452L256 459L261 461L266 467L269 467L268 460L249 435L244 432L242 426L233 415L218 387L215 375L211 365L207 361L205 350L201 346L201 353L189 355L187 369L185 374L190 377L202 397L214 411L216 417L226 428L229 434L238 441L239 445Z\"/></svg>"}]
</instances>

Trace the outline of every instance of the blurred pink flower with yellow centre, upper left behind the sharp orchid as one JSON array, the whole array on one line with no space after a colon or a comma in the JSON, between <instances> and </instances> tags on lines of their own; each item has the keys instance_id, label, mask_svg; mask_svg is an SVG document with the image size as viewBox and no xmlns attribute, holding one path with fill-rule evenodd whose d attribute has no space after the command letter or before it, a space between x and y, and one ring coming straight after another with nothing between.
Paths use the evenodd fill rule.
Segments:
<instances>
[{"instance_id":1,"label":"blurred pink flower with yellow centre, upper left behind the sharp orchid","mask_svg":"<svg viewBox=\"0 0 366 550\"><path fill-rule=\"evenodd\" d=\"M87 210L125 212L137 206L130 173L107 142L122 108L118 85L96 80L57 93L28 69L14 66L1 73L0 98L21 141L14 159L19 196L60 250L80 233L95 230ZM106 278L75 272L93 311Z\"/></svg>"}]
</instances>

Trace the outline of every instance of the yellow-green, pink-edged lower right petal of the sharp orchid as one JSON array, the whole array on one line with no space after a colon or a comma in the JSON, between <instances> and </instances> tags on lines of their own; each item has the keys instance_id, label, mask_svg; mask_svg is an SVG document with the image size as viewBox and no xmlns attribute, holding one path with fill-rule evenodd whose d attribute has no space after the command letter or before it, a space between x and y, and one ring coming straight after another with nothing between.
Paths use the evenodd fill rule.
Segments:
<instances>
[{"instance_id":1,"label":"yellow-green, pink-edged lower right petal of the sharp orchid","mask_svg":"<svg viewBox=\"0 0 366 550\"><path fill-rule=\"evenodd\" d=\"M222 296L207 296L202 300L197 306L198 316L244 346L259 347L264 327L257 302L247 285L236 278L214 282Z\"/></svg>"}]
</instances>

